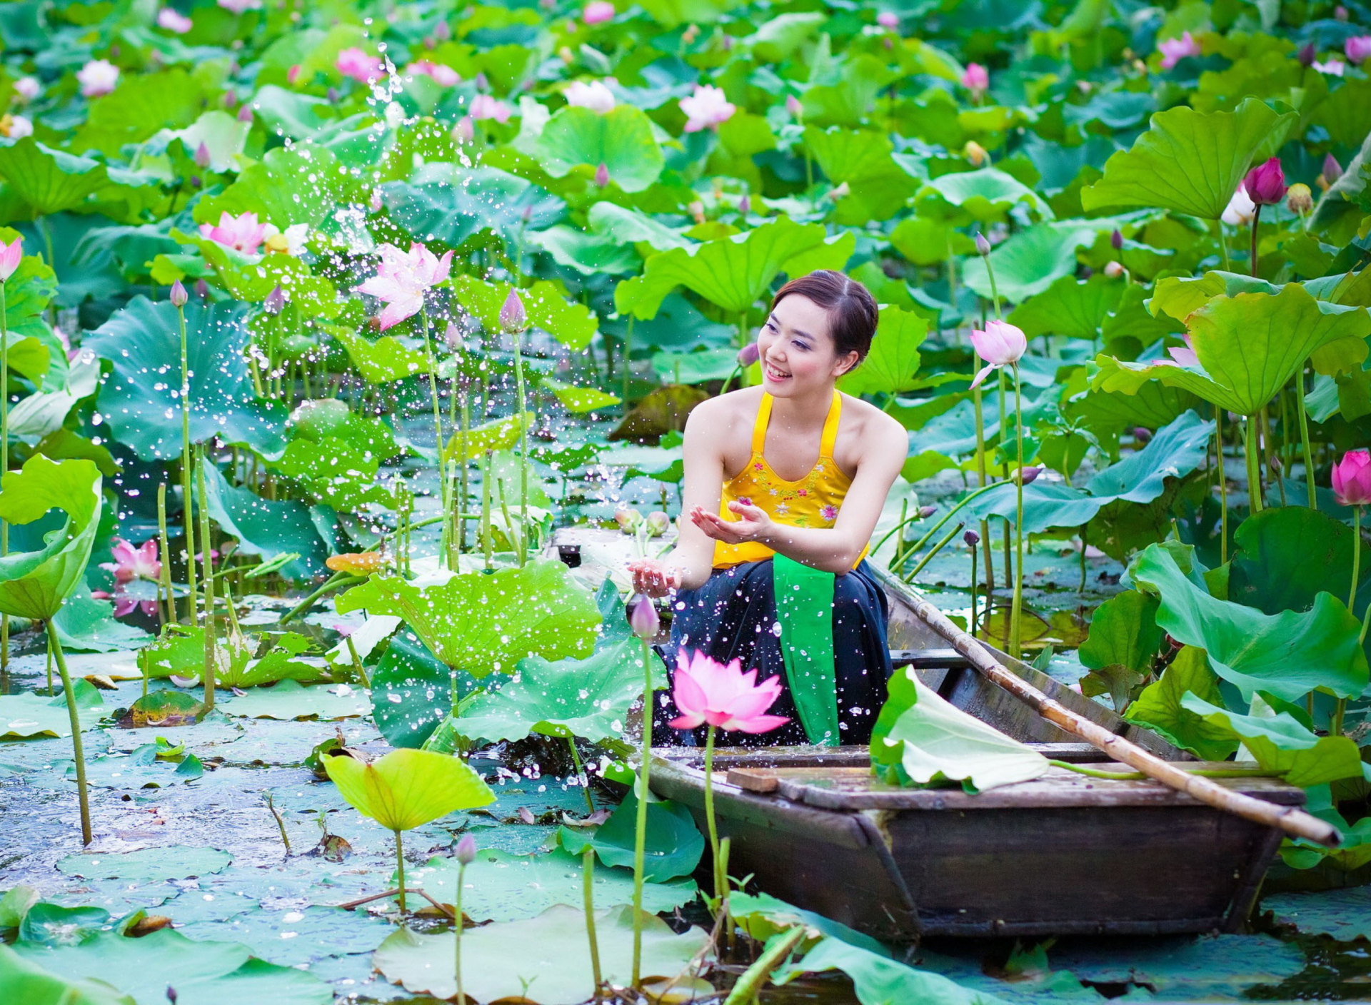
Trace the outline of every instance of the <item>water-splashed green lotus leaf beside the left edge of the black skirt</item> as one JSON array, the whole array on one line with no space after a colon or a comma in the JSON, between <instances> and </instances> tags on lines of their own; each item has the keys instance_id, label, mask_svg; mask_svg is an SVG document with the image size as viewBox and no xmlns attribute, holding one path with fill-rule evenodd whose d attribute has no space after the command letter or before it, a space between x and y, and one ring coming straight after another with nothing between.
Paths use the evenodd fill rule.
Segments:
<instances>
[{"instance_id":1,"label":"water-splashed green lotus leaf beside the left edge of the black skirt","mask_svg":"<svg viewBox=\"0 0 1371 1005\"><path fill-rule=\"evenodd\" d=\"M658 687L666 687L657 655L653 676ZM602 743L622 738L628 707L642 695L643 647L627 639L585 659L520 659L514 679L474 698L454 725L473 740L521 740L537 732Z\"/></svg>"}]
</instances>

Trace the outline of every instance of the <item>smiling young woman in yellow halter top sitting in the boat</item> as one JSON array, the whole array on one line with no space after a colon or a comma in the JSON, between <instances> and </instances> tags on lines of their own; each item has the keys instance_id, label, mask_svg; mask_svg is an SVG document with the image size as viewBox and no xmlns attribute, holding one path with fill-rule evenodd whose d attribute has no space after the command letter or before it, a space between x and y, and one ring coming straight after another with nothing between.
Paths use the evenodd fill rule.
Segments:
<instances>
[{"instance_id":1,"label":"smiling young woman in yellow halter top sitting in the boat","mask_svg":"<svg viewBox=\"0 0 1371 1005\"><path fill-rule=\"evenodd\" d=\"M702 402L686 424L676 547L629 565L639 592L675 591L669 668L698 649L780 679L771 712L791 721L721 744L866 743L886 701L886 598L865 555L908 437L834 387L876 322L871 293L842 273L781 287L757 337L762 385ZM668 692L659 702L658 720L676 714Z\"/></svg>"}]
</instances>

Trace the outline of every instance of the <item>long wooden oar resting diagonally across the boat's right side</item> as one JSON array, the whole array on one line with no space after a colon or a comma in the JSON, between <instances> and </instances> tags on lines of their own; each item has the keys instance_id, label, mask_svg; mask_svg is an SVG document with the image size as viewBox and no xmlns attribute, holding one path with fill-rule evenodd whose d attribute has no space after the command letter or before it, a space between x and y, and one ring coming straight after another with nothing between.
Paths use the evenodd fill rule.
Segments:
<instances>
[{"instance_id":1,"label":"long wooden oar resting diagonally across the boat's right side","mask_svg":"<svg viewBox=\"0 0 1371 1005\"><path fill-rule=\"evenodd\" d=\"M917 610L924 621L953 644L953 649L967 657L978 673L1002 687L1053 725L1100 747L1100 750L1115 761L1127 764L1141 771L1149 779L1156 779L1161 784L1169 786L1178 792L1185 792L1215 809L1254 820L1267 827L1279 827L1296 838L1307 838L1328 847L1338 846L1341 838L1338 828L1333 827L1333 824L1319 820L1316 816L1305 813L1297 806L1276 806L1264 799L1254 799L1250 795L1243 795L1242 792L1215 784L1209 779L1191 775L1171 761L1163 761L1137 743L1109 732L1098 723L1091 723L1089 718L1078 716L1019 675L1001 666L999 661L980 642L961 631L928 601L912 592L906 592L905 599Z\"/></svg>"}]
</instances>

